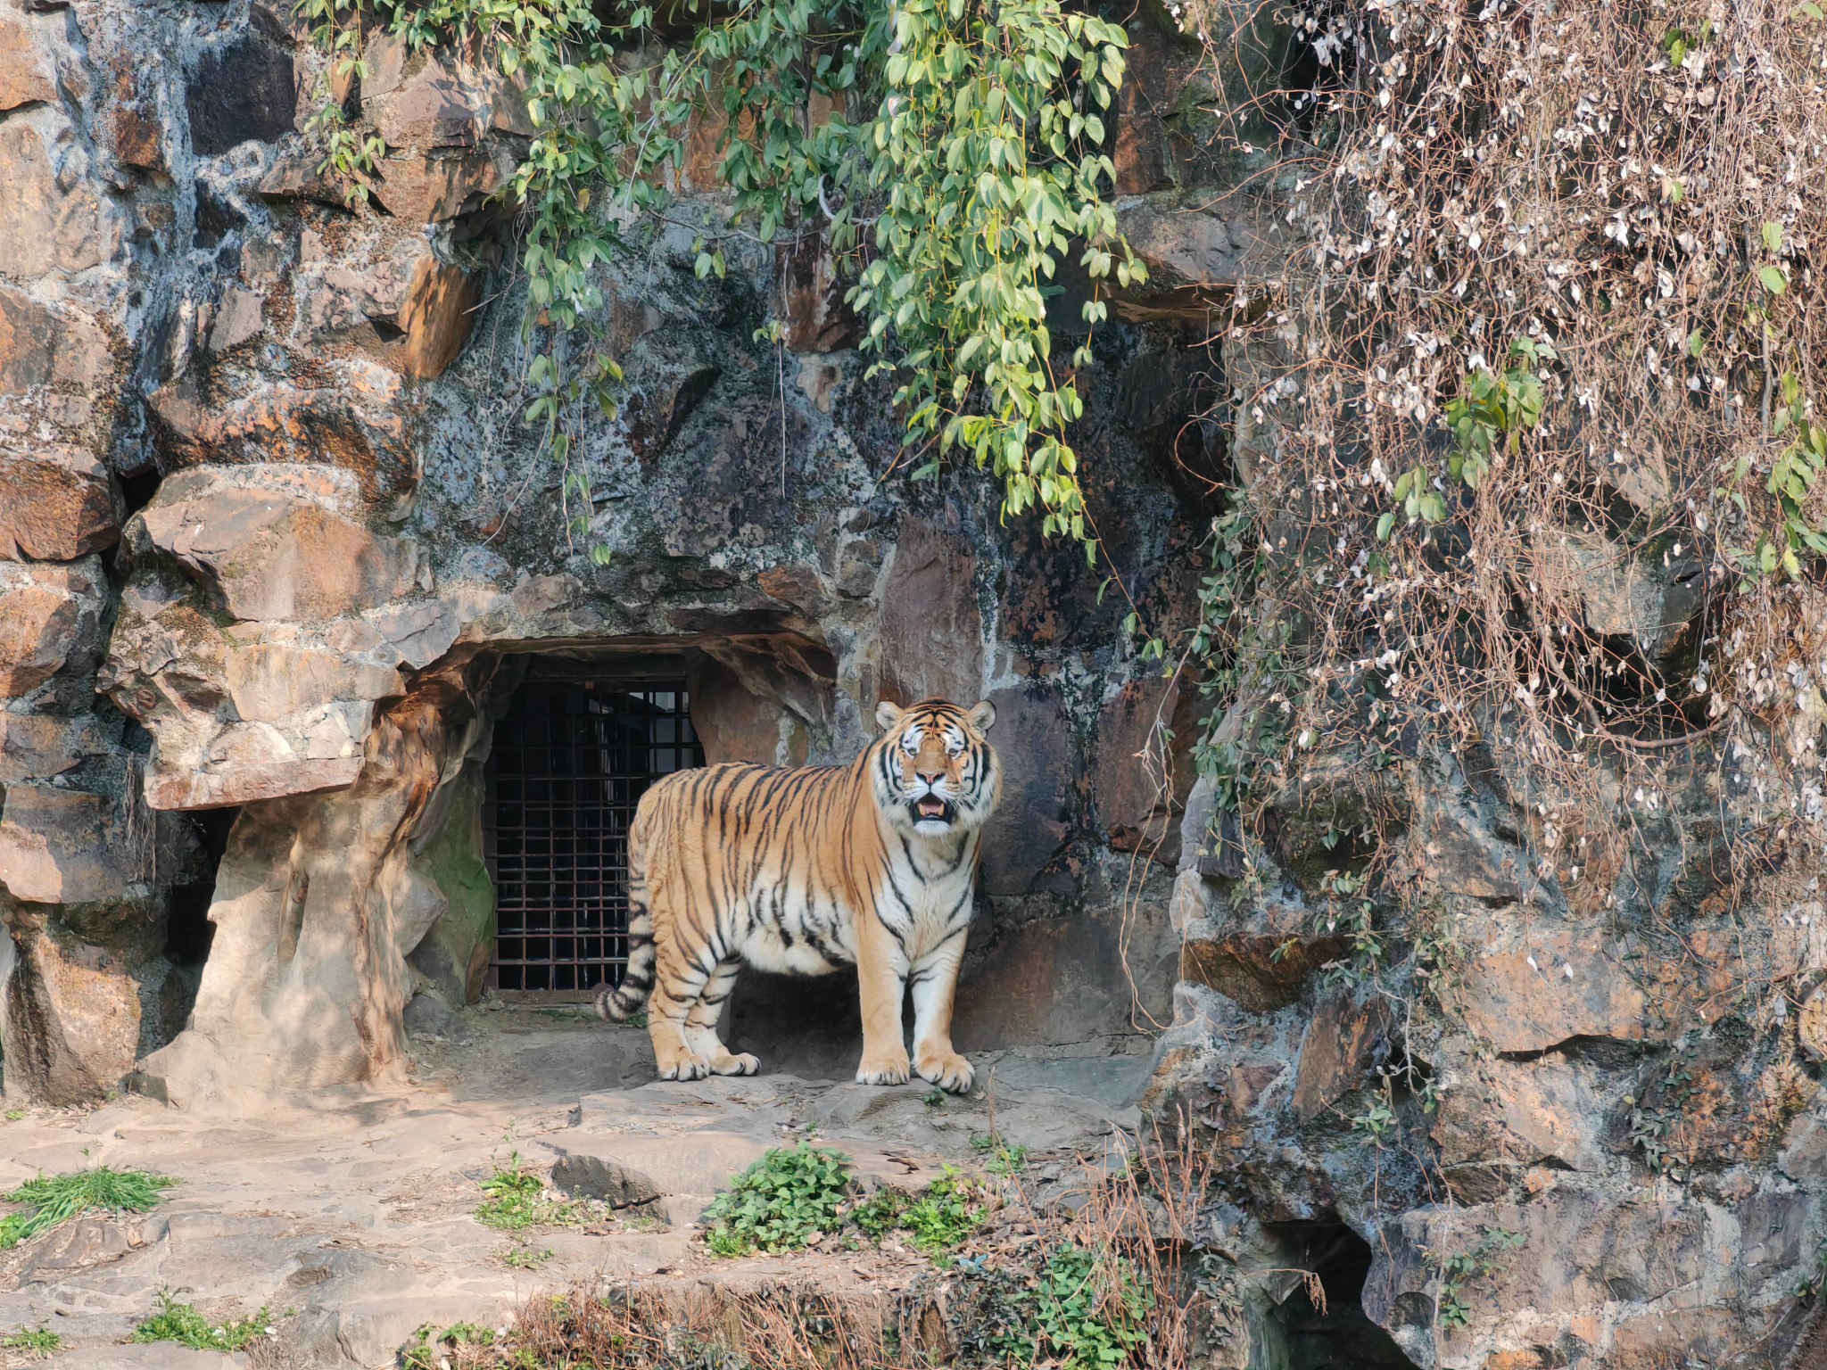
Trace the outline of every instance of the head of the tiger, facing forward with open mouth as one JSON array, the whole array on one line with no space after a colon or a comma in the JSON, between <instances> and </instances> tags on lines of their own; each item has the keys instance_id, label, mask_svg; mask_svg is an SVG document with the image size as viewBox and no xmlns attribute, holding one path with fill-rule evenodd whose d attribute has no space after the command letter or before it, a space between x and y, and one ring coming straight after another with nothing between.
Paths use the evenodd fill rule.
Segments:
<instances>
[{"instance_id":1,"label":"head of the tiger, facing forward with open mouth","mask_svg":"<svg viewBox=\"0 0 1827 1370\"><path fill-rule=\"evenodd\" d=\"M875 723L875 802L892 827L924 838L974 833L1003 793L1003 767L983 738L996 722L988 700L959 709L921 700L908 709L882 700Z\"/></svg>"}]
</instances>

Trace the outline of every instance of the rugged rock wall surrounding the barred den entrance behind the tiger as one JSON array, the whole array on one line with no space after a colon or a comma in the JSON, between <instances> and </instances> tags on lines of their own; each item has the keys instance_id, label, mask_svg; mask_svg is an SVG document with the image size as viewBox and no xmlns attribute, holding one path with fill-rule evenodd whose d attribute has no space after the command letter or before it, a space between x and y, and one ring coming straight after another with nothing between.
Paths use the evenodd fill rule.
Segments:
<instances>
[{"instance_id":1,"label":"rugged rock wall surrounding the barred den entrance behind the tiger","mask_svg":"<svg viewBox=\"0 0 1827 1370\"><path fill-rule=\"evenodd\" d=\"M1149 680L1076 553L1003 528L987 482L886 477L899 429L817 243L698 281L689 234L632 230L603 272L628 393L574 458L576 537L519 418L486 203L524 106L481 68L367 58L340 95L389 153L351 210L300 132L322 58L283 4L0 5L7 1091L396 1069L415 992L481 986L481 767L554 652L671 654L713 758L842 760L879 698L994 700L1021 765L961 1038L1135 1049L1173 979L1175 800L1133 760L1173 718L1184 796L1191 687ZM718 194L705 157L687 179ZM1169 327L1109 351L1100 522L1138 603L1184 616L1209 486L1178 429L1217 364ZM210 875L186 815L230 807L197 985L172 891Z\"/></svg>"}]
</instances>

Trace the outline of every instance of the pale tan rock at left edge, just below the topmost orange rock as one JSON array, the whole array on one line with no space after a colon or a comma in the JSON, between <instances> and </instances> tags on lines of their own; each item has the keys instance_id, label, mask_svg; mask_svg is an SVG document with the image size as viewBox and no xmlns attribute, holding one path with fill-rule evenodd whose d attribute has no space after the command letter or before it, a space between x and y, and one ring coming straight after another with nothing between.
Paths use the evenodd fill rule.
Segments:
<instances>
[{"instance_id":1,"label":"pale tan rock at left edge, just below the topmost orange rock","mask_svg":"<svg viewBox=\"0 0 1827 1370\"><path fill-rule=\"evenodd\" d=\"M68 184L58 172L55 139L69 121L33 110L0 121L0 274L42 276L86 270L121 250L121 214L86 179Z\"/></svg>"}]
</instances>

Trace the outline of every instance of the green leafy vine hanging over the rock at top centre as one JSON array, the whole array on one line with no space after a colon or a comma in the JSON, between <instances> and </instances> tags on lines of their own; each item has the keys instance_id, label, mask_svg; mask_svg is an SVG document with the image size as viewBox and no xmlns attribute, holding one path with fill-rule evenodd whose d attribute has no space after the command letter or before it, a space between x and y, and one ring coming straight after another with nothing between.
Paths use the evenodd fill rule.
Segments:
<instances>
[{"instance_id":1,"label":"green leafy vine hanging over the rock at top centre","mask_svg":"<svg viewBox=\"0 0 1827 1370\"><path fill-rule=\"evenodd\" d=\"M824 236L855 270L848 298L868 325L870 374L899 380L915 475L968 453L999 477L1005 513L1038 510L1049 535L1094 561L1069 440L1083 413L1072 367L1089 340L1061 365L1047 300L1061 269L1083 269L1094 325L1102 283L1144 274L1105 199L1102 111L1124 79L1124 31L1060 0L700 5L663 16L691 20L689 38L667 42L652 5L607 22L576 0L300 0L331 53L312 128L351 199L365 199L385 144L327 90L331 77L367 75L373 33L491 62L523 88L535 137L506 199L521 214L533 353L526 420L583 510L572 535L586 535L590 510L588 473L572 460L581 424L592 402L614 413L621 380L599 323L599 267L627 225L669 214L687 137L709 119L733 199L703 232L698 274L722 276L731 236Z\"/></svg>"}]
</instances>

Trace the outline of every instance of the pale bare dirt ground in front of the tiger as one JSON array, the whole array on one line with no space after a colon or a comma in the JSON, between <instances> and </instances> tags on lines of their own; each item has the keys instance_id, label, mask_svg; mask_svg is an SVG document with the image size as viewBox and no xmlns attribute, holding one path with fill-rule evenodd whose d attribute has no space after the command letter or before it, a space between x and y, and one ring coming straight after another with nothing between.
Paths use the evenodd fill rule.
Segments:
<instances>
[{"instance_id":1,"label":"pale bare dirt ground in front of the tiger","mask_svg":"<svg viewBox=\"0 0 1827 1370\"><path fill-rule=\"evenodd\" d=\"M164 1291L212 1317L267 1310L263 1365L382 1366L420 1324L488 1324L537 1290L577 1282L892 1291L923 1257L890 1246L713 1260L694 1224L733 1173L808 1133L864 1176L912 1187L946 1162L979 1162L972 1138L994 1131L1029 1147L1045 1182L1135 1127L1147 1056L1133 1050L1118 1039L977 1056L979 1087L957 1098L921 1081L767 1074L766 1063L747 1080L678 1085L654 1080L638 1028L497 1003L415 1036L409 1078L384 1091L236 1112L139 1096L31 1111L0 1123L0 1187L93 1164L181 1184L153 1213L80 1218L0 1253L0 1337L51 1328L66 1350L42 1365L58 1370L221 1366L221 1355L122 1344ZM565 1162L566 1176L632 1176L660 1198L517 1242L475 1217L481 1182L515 1156L539 1171Z\"/></svg>"}]
</instances>

